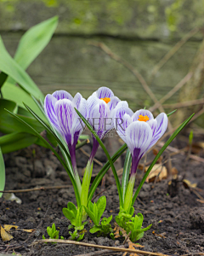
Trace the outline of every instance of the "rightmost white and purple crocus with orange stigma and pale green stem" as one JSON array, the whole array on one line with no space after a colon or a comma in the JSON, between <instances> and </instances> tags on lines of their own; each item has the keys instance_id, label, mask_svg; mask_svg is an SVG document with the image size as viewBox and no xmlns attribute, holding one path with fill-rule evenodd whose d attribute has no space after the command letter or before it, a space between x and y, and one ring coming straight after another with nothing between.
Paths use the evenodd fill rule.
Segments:
<instances>
[{"instance_id":1,"label":"rightmost white and purple crocus with orange stigma and pale green stem","mask_svg":"<svg viewBox=\"0 0 204 256\"><path fill-rule=\"evenodd\" d=\"M119 108L115 114L115 129L122 140L127 143L132 154L132 168L124 209L131 205L133 185L139 160L161 138L167 130L167 114L160 113L156 119L149 110L140 109L133 113L130 108Z\"/></svg>"}]
</instances>

